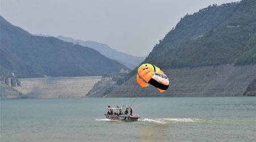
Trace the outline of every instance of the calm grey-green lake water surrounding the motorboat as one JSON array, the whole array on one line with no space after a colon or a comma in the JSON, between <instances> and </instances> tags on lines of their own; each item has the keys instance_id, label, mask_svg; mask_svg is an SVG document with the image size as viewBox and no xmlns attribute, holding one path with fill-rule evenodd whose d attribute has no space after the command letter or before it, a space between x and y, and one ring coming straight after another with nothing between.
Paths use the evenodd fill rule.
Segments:
<instances>
[{"instance_id":1,"label":"calm grey-green lake water surrounding the motorboat","mask_svg":"<svg viewBox=\"0 0 256 142\"><path fill-rule=\"evenodd\" d=\"M1 141L256 141L256 97L7 99ZM138 122L104 118L132 106Z\"/></svg>"}]
</instances>

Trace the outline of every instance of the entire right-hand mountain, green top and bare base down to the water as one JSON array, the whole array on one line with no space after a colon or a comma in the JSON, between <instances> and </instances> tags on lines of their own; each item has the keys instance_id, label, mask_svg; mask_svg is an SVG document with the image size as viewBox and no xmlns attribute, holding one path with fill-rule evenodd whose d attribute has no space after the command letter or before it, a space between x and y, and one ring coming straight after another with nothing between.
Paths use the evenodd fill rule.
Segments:
<instances>
[{"instance_id":1,"label":"entire right-hand mountain, green top and bare base down to the water","mask_svg":"<svg viewBox=\"0 0 256 142\"><path fill-rule=\"evenodd\" d=\"M242 96L254 93L256 1L212 5L185 15L143 61L170 78L159 94L131 77L104 97ZM247 91L246 91L247 90Z\"/></svg>"}]
</instances>

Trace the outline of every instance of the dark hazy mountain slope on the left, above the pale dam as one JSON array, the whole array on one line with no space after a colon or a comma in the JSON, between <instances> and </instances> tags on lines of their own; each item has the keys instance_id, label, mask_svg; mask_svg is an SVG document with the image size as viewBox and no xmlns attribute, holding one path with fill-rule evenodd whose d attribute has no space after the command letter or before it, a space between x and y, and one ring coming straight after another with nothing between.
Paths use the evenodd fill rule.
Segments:
<instances>
[{"instance_id":1,"label":"dark hazy mountain slope on the left, above the pale dam","mask_svg":"<svg viewBox=\"0 0 256 142\"><path fill-rule=\"evenodd\" d=\"M2 16L0 22L0 72L14 72L18 77L29 78L101 76L127 69L92 48L55 37L32 35Z\"/></svg>"}]
</instances>

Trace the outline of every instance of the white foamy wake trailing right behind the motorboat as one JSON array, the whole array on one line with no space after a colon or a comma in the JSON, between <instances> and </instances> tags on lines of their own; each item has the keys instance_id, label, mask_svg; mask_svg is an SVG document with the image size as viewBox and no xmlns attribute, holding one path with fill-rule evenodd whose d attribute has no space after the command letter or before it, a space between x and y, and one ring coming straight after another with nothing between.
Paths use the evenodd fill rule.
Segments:
<instances>
[{"instance_id":1,"label":"white foamy wake trailing right behind the motorboat","mask_svg":"<svg viewBox=\"0 0 256 142\"><path fill-rule=\"evenodd\" d=\"M195 118L162 118L162 119L139 119L141 122L152 122L158 124L175 124L175 123L185 123L185 122L200 122L202 119Z\"/></svg>"}]
</instances>

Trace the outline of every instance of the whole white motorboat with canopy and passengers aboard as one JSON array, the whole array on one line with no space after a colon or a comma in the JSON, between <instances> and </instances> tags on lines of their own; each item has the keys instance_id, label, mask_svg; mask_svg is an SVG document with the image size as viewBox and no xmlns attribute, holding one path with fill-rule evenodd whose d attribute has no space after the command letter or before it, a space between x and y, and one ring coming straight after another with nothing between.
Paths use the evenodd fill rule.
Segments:
<instances>
[{"instance_id":1,"label":"whole white motorboat with canopy and passengers aboard","mask_svg":"<svg viewBox=\"0 0 256 142\"><path fill-rule=\"evenodd\" d=\"M121 120L126 122L138 121L139 115L133 114L133 109L123 105L121 108L108 106L106 108L107 112L104 114L107 119L111 120Z\"/></svg>"}]
</instances>

